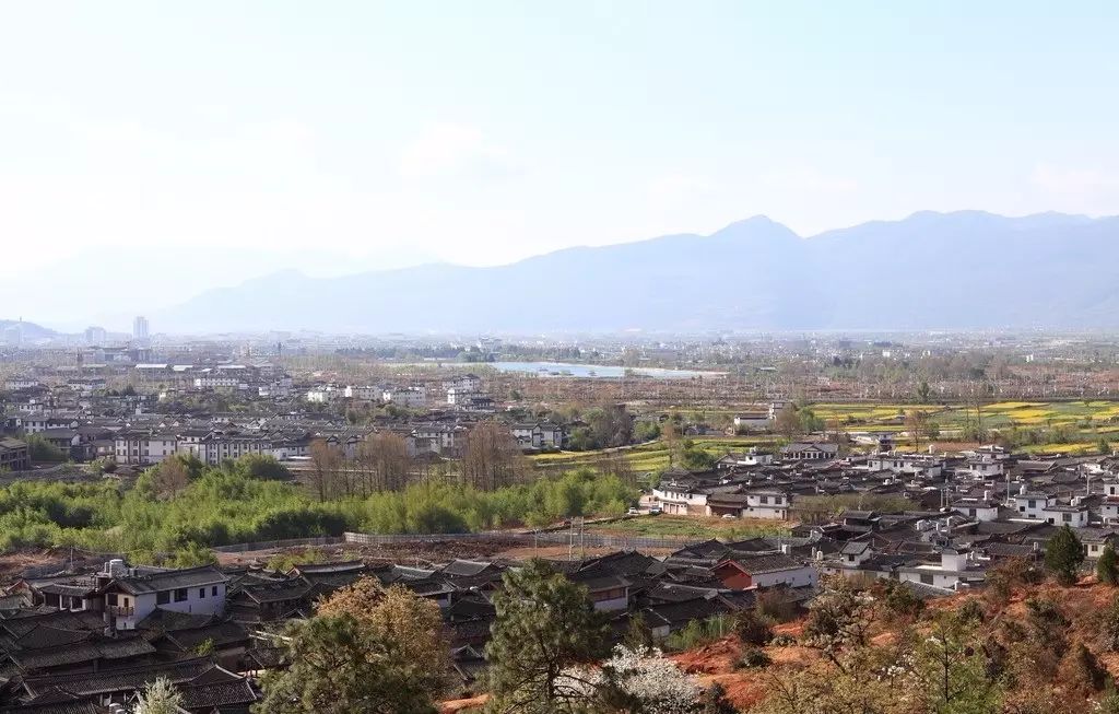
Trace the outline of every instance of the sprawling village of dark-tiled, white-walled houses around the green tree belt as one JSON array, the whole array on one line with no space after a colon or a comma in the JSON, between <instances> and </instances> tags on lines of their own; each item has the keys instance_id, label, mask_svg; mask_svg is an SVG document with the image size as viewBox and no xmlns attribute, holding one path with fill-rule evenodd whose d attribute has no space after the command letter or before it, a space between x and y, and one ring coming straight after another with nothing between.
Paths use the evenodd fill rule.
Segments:
<instances>
[{"instance_id":1,"label":"sprawling village of dark-tiled, white-walled houses around the green tree belt","mask_svg":"<svg viewBox=\"0 0 1119 714\"><path fill-rule=\"evenodd\" d=\"M98 361L83 357L82 369L8 376L2 478L109 479L128 489L169 464L256 459L294 488L340 489L351 471L385 468L366 457L391 434L399 473L378 472L367 483L374 490L453 479L454 464L464 468L491 440L485 453L508 458L510 486L554 478L549 460L599 463L632 483L633 498L620 511L562 514L527 528L213 542L194 566L74 547L67 557L55 547L8 573L0 711L128 712L145 686L166 679L181 711L247 712L262 697L262 674L291 664L285 623L365 582L438 605L454 673L441 696L471 701L485 692L495 594L529 562L579 586L615 642L640 623L671 650L696 628L810 612L837 577L901 588L921 602L951 600L985 592L1008 567L1042 567L1066 529L1082 572L1119 542L1119 458L1110 451L1027 452L1005 440L947 450L902 410L896 420L829 429L811 405L739 397L728 400L726 426L712 429L632 402L581 413L526 408L500 396L519 383L483 378L485 369L340 384L271 360L140 361L150 349L110 359L98 348ZM125 388L110 386L122 376ZM224 411L207 412L217 402ZM665 461L634 470L652 448L665 449ZM604 461L582 455L596 450Z\"/></svg>"}]
</instances>

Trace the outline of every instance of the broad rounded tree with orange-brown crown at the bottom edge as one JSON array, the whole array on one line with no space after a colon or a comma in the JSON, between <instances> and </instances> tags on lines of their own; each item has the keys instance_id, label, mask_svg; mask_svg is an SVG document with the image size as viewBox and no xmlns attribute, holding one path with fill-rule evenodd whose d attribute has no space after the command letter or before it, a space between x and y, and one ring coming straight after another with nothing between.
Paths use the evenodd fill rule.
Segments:
<instances>
[{"instance_id":1,"label":"broad rounded tree with orange-brown crown at the bottom edge","mask_svg":"<svg viewBox=\"0 0 1119 714\"><path fill-rule=\"evenodd\" d=\"M255 714L434 714L427 663L403 655L351 616L316 616L285 630L285 669L261 678Z\"/></svg>"}]
</instances>

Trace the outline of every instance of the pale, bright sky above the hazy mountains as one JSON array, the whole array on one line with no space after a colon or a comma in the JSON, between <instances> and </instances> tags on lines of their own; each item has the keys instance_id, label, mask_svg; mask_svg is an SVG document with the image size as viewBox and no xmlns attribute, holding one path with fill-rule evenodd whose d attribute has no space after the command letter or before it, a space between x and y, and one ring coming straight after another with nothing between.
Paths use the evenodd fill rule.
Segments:
<instances>
[{"instance_id":1,"label":"pale, bright sky above the hazy mountains","mask_svg":"<svg viewBox=\"0 0 1119 714\"><path fill-rule=\"evenodd\" d=\"M1119 214L1116 37L1110 1L0 0L0 317L756 214Z\"/></svg>"}]
</instances>

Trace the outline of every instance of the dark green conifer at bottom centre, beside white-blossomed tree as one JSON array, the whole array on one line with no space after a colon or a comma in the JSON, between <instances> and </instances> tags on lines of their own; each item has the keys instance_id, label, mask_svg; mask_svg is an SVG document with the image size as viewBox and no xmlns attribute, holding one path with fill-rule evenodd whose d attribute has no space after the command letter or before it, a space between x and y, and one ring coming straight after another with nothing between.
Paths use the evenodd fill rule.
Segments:
<instances>
[{"instance_id":1,"label":"dark green conifer at bottom centre, beside white-blossomed tree","mask_svg":"<svg viewBox=\"0 0 1119 714\"><path fill-rule=\"evenodd\" d=\"M493 595L497 617L486 645L492 714L575 712L586 687L571 669L606 654L606 627L586 589L544 561L510 570Z\"/></svg>"}]
</instances>

